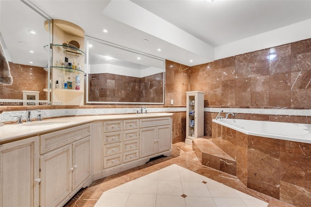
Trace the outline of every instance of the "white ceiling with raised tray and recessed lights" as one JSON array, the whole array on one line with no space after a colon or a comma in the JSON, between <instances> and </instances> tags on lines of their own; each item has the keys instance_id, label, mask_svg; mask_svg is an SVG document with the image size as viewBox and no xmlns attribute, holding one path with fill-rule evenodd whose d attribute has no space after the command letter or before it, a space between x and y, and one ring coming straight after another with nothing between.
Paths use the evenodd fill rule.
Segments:
<instances>
[{"instance_id":1,"label":"white ceiling with raised tray and recessed lights","mask_svg":"<svg viewBox=\"0 0 311 207\"><path fill-rule=\"evenodd\" d=\"M88 36L187 66L311 38L311 0L30 1Z\"/></svg>"}]
</instances>

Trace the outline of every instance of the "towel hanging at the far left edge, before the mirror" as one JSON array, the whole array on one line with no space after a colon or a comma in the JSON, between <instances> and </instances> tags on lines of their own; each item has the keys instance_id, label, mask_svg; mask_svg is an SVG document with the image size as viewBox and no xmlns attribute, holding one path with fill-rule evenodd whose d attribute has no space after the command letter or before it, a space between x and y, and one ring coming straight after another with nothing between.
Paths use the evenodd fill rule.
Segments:
<instances>
[{"instance_id":1,"label":"towel hanging at the far left edge, before the mirror","mask_svg":"<svg viewBox=\"0 0 311 207\"><path fill-rule=\"evenodd\" d=\"M10 73L10 66L0 43L0 85L11 86L12 84L13 78Z\"/></svg>"}]
</instances>

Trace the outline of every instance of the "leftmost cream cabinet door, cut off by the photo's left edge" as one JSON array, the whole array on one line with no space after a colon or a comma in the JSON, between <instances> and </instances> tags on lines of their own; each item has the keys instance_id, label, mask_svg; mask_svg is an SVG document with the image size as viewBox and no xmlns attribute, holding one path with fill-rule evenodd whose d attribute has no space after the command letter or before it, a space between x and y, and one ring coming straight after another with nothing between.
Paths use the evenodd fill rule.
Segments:
<instances>
[{"instance_id":1,"label":"leftmost cream cabinet door, cut off by the photo's left edge","mask_svg":"<svg viewBox=\"0 0 311 207\"><path fill-rule=\"evenodd\" d=\"M39 206L39 139L0 145L0 206Z\"/></svg>"}]
</instances>

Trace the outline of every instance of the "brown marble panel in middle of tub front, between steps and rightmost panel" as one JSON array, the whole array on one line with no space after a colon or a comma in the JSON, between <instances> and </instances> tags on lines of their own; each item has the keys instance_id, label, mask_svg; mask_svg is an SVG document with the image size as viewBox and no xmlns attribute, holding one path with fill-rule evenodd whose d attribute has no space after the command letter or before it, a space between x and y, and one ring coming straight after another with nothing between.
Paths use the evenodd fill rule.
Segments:
<instances>
[{"instance_id":1,"label":"brown marble panel in middle of tub front, between steps and rightmost panel","mask_svg":"<svg viewBox=\"0 0 311 207\"><path fill-rule=\"evenodd\" d=\"M280 140L248 136L247 187L279 199Z\"/></svg>"}]
</instances>

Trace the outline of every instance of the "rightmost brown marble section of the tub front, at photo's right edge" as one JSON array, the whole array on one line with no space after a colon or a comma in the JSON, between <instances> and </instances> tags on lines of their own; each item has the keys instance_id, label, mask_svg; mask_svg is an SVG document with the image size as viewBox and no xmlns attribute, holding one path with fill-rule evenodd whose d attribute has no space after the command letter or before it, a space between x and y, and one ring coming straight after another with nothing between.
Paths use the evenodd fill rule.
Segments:
<instances>
[{"instance_id":1,"label":"rightmost brown marble section of the tub front, at photo's right edge","mask_svg":"<svg viewBox=\"0 0 311 207\"><path fill-rule=\"evenodd\" d=\"M280 200L311 204L311 144L280 140Z\"/></svg>"}]
</instances>

